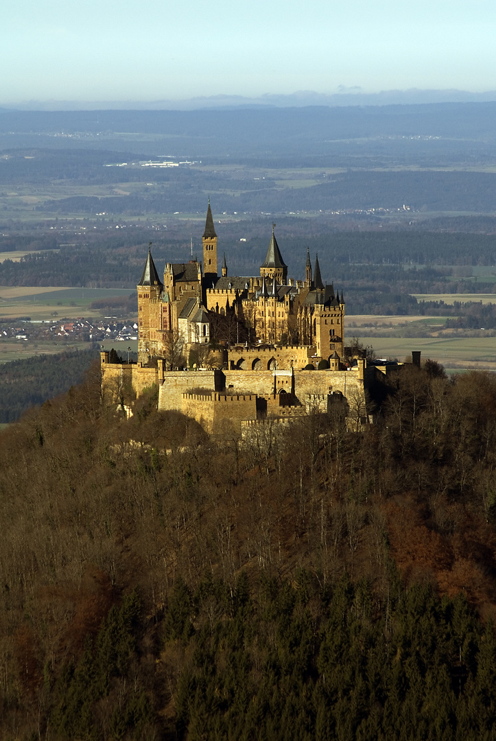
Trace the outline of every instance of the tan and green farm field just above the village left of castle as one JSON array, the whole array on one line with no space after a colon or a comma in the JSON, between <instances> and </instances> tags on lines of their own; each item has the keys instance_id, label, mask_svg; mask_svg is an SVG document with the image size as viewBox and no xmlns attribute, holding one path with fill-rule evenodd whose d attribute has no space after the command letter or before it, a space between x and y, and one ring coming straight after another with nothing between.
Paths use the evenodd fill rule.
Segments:
<instances>
[{"instance_id":1,"label":"tan and green farm field just above the village left of castle","mask_svg":"<svg viewBox=\"0 0 496 741\"><path fill-rule=\"evenodd\" d=\"M16 319L76 319L80 316L99 316L90 304L99 299L129 296L129 288L59 288L39 286L0 286L0 317ZM136 306L137 316L137 306ZM131 319L133 317L129 317Z\"/></svg>"}]
</instances>

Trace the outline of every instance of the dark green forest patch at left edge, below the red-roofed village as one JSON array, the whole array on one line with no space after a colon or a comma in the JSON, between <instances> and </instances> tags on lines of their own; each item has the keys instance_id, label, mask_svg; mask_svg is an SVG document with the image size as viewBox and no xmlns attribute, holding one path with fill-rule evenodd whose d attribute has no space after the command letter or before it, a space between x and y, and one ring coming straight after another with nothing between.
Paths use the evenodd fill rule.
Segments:
<instances>
[{"instance_id":1,"label":"dark green forest patch at left edge, below the red-roofed village","mask_svg":"<svg viewBox=\"0 0 496 741\"><path fill-rule=\"evenodd\" d=\"M0 423L16 422L32 406L79 384L98 350L37 355L0 364Z\"/></svg>"}]
</instances>

